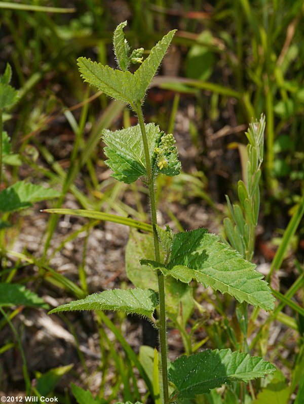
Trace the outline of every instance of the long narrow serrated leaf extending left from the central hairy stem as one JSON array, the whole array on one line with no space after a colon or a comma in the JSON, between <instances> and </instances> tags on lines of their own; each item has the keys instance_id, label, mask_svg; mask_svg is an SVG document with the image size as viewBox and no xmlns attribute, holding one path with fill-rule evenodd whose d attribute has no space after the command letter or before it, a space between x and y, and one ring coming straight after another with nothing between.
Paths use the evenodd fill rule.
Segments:
<instances>
[{"instance_id":1,"label":"long narrow serrated leaf extending left from the central hairy stem","mask_svg":"<svg viewBox=\"0 0 304 404\"><path fill-rule=\"evenodd\" d=\"M154 290L113 289L62 304L49 311L49 314L71 310L119 310L151 318L158 304L158 293Z\"/></svg>"}]
</instances>

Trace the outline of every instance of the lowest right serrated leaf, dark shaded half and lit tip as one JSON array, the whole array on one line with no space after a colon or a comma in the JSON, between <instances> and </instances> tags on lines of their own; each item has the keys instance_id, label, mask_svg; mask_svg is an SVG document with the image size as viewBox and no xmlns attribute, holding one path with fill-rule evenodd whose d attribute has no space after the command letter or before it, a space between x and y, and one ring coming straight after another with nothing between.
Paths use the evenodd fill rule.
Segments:
<instances>
[{"instance_id":1,"label":"lowest right serrated leaf, dark shaded half and lit tip","mask_svg":"<svg viewBox=\"0 0 304 404\"><path fill-rule=\"evenodd\" d=\"M231 349L210 350L190 356L180 356L169 368L169 379L175 384L180 398L195 398L211 389L233 381L263 377L276 368L261 357Z\"/></svg>"}]
</instances>

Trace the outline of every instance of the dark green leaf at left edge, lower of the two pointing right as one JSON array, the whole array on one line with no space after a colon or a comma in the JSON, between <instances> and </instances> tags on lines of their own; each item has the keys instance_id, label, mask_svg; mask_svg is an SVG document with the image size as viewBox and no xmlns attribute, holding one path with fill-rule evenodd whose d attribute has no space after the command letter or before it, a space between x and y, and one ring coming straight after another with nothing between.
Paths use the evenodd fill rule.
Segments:
<instances>
[{"instance_id":1,"label":"dark green leaf at left edge, lower of the two pointing right","mask_svg":"<svg viewBox=\"0 0 304 404\"><path fill-rule=\"evenodd\" d=\"M41 297L18 283L0 283L0 306L49 308Z\"/></svg>"}]
</instances>

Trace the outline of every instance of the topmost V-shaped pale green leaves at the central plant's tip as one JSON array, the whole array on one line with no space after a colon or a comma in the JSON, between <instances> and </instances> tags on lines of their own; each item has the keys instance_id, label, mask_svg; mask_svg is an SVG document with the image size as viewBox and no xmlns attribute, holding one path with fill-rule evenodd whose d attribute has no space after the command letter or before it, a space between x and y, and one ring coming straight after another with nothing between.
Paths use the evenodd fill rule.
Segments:
<instances>
[{"instance_id":1,"label":"topmost V-shaped pale green leaves at the central plant's tip","mask_svg":"<svg viewBox=\"0 0 304 404\"><path fill-rule=\"evenodd\" d=\"M122 70L126 70L128 67L128 46L126 46L122 31L124 24L119 25L115 35L116 57ZM134 74L129 71L114 70L109 66L103 66L101 63L81 57L78 58L78 66L82 77L107 96L124 101L135 108L136 104L143 102L147 88L165 56L174 33L175 30L170 31L151 49L149 56Z\"/></svg>"}]
</instances>

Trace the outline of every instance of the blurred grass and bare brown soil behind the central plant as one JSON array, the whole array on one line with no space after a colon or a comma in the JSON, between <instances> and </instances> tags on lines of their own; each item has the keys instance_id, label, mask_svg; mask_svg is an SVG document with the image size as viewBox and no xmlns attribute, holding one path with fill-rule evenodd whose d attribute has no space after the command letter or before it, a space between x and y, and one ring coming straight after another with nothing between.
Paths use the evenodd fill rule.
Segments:
<instances>
[{"instance_id":1,"label":"blurred grass and bare brown soil behind the central plant","mask_svg":"<svg viewBox=\"0 0 304 404\"><path fill-rule=\"evenodd\" d=\"M264 113L253 260L278 298L270 316L250 313L245 336L232 299L198 289L198 302L207 299L209 306L198 305L185 332L196 349L236 349L245 336L255 353L267 356L282 372L261 386L257 383L256 392L268 383L269 391L279 391L279 403L302 402L302 1L1 2L0 13L0 74L10 63L11 85L19 90L18 103L3 111L9 154L18 155L18 161L12 165L4 160L2 190L25 179L60 192L55 202L22 211L7 211L6 200L0 203L2 223L10 223L0 230L1 282L24 285L50 306L129 282L120 258L127 240L124 230L94 218L47 216L39 209L85 208L147 220L141 183L116 184L100 142L103 128L122 128L137 120L125 105L87 87L76 59L86 56L114 66L112 32L125 20L131 46L145 50L176 28L145 102L146 120L174 133L183 167L179 177L159 179L160 220L176 230L201 226L224 237L222 223L229 216L225 195L237 202L246 160L244 131L252 117ZM117 394L122 400L144 400L149 379L142 369L153 369L153 354L148 348L139 352L137 320L120 313L50 320L45 309L28 308L33 304L0 304L0 390L8 395L53 394L68 403L74 399L69 388L74 382L97 394L100 402L113 402ZM148 345L147 335L143 338ZM171 347L183 351L183 336L169 332L169 338ZM247 393L233 386L198 402L222 402L221 396L224 402L238 402L239 397L244 402Z\"/></svg>"}]
</instances>

